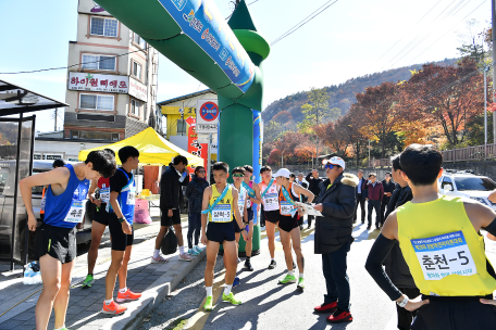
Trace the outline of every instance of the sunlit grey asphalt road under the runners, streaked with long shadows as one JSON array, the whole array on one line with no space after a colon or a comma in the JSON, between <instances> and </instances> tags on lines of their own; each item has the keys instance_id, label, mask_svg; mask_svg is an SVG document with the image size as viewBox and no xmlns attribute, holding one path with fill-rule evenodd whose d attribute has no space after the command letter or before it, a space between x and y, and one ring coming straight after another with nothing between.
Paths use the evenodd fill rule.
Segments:
<instances>
[{"instance_id":1,"label":"sunlit grey asphalt road under the runners, streaked with long shadows","mask_svg":"<svg viewBox=\"0 0 496 330\"><path fill-rule=\"evenodd\" d=\"M363 267L376 234L377 231L368 231L361 224L354 231L356 240L348 254L354 316L354 321L350 323L332 327L326 322L327 315L313 314L313 307L323 302L325 282L321 256L313 254L314 229L312 228L305 229L302 232L302 250L307 266L305 292L298 291L296 284L277 283L286 274L282 245L280 242L276 244L277 267L268 269L270 256L266 239L263 239L261 254L252 258L255 271L243 270L243 265L238 265L241 284L233 291L243 305L233 306L223 303L219 297L211 313L203 312L201 308L206 297L203 283L206 262L203 261L138 329L394 329L395 305L373 282ZM278 241L278 234L276 240ZM222 268L222 258L219 257L214 299L220 296L223 290Z\"/></svg>"}]
</instances>

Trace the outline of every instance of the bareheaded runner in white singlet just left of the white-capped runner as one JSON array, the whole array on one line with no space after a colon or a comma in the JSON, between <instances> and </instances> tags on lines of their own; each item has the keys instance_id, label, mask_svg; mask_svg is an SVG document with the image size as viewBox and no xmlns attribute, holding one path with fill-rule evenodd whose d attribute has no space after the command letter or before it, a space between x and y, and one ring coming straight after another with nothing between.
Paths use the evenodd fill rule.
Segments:
<instances>
[{"instance_id":1,"label":"bareheaded runner in white singlet just left of the white-capped runner","mask_svg":"<svg viewBox=\"0 0 496 330\"><path fill-rule=\"evenodd\" d=\"M260 169L262 181L259 188L262 198L262 212L260 217L265 220L266 237L269 239L269 253L271 254L271 263L269 269L274 269L277 266L275 262L275 225L280 220L280 203L277 199L277 185L272 177L272 168L269 165Z\"/></svg>"}]
</instances>

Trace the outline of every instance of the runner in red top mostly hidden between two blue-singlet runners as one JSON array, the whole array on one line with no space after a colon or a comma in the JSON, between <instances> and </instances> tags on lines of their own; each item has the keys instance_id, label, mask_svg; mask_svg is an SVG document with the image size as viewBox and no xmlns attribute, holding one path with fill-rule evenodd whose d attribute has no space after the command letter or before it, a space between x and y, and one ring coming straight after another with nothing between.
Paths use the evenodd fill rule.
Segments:
<instances>
[{"instance_id":1,"label":"runner in red top mostly hidden between two blue-singlet runners","mask_svg":"<svg viewBox=\"0 0 496 330\"><path fill-rule=\"evenodd\" d=\"M115 152L112 149L104 149L115 157ZM98 198L96 198L95 191L98 188ZM83 282L82 289L91 288L95 282L94 270L95 264L98 257L98 248L101 243L101 237L106 231L106 227L109 226L109 213L107 212L107 204L110 199L110 178L103 178L91 180L91 186L88 190L88 199L96 205L94 219L91 224L91 243L88 251L88 275Z\"/></svg>"}]
</instances>

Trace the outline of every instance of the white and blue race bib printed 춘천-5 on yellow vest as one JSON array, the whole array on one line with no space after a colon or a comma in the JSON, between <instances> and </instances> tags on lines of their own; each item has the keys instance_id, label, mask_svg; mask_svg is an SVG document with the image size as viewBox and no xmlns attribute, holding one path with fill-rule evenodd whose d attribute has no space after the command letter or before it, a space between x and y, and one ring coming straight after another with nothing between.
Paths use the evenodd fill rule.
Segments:
<instances>
[{"instance_id":1,"label":"white and blue race bib printed \ucd98\ucc9c-5 on yellow vest","mask_svg":"<svg viewBox=\"0 0 496 330\"><path fill-rule=\"evenodd\" d=\"M425 280L436 281L448 275L471 276L478 272L461 230L411 240L411 244Z\"/></svg>"}]
</instances>

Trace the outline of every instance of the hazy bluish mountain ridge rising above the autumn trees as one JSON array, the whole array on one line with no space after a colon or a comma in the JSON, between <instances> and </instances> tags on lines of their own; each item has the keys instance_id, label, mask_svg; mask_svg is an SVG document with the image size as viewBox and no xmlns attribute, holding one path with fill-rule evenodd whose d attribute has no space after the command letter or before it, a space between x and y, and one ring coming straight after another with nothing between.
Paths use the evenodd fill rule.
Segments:
<instances>
[{"instance_id":1,"label":"hazy bluish mountain ridge rising above the autumn trees","mask_svg":"<svg viewBox=\"0 0 496 330\"><path fill-rule=\"evenodd\" d=\"M454 65L457 61L458 59L445 59L444 61L434 63L437 65L448 66ZM399 80L408 80L411 77L410 71L419 71L422 68L422 65L423 64L414 64L411 66L393 68L382 73L374 73L358 78L351 78L339 85L324 87L330 96L328 107L339 107L342 114L344 115L348 112L349 106L357 101L356 94L358 92L364 91L367 87L377 86L385 81L396 82ZM266 125L276 114L282 111L287 111L292 114L293 120L296 125L296 123L303 119L301 105L305 103L307 103L307 91L300 91L292 96L287 96L272 102L268 107L265 107L262 112L262 119Z\"/></svg>"}]
</instances>

